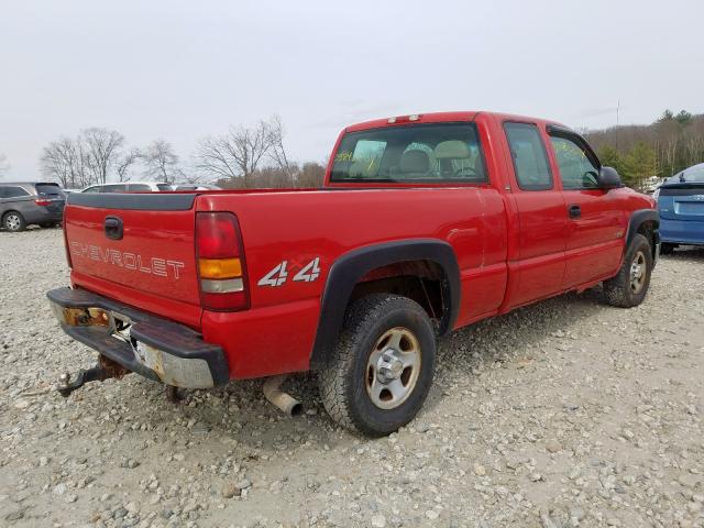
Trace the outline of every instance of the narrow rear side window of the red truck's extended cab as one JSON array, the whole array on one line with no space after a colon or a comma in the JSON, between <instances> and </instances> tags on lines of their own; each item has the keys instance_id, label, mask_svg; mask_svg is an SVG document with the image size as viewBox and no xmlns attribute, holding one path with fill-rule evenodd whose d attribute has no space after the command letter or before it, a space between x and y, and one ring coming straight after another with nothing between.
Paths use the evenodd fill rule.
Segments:
<instances>
[{"instance_id":1,"label":"narrow rear side window of the red truck's extended cab","mask_svg":"<svg viewBox=\"0 0 704 528\"><path fill-rule=\"evenodd\" d=\"M504 130L518 187L522 190L552 188L552 174L538 127L529 123L505 123Z\"/></svg>"}]
</instances>

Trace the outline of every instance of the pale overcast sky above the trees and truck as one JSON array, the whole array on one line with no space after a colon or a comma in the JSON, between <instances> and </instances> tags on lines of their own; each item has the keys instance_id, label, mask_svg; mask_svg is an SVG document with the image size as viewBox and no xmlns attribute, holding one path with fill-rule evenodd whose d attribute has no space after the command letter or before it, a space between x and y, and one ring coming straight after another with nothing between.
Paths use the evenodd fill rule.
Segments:
<instances>
[{"instance_id":1,"label":"pale overcast sky above the trees and truck","mask_svg":"<svg viewBox=\"0 0 704 528\"><path fill-rule=\"evenodd\" d=\"M274 113L297 161L345 124L501 110L574 128L704 111L704 2L1 0L6 179L80 129L130 145L199 138Z\"/></svg>"}]
</instances>

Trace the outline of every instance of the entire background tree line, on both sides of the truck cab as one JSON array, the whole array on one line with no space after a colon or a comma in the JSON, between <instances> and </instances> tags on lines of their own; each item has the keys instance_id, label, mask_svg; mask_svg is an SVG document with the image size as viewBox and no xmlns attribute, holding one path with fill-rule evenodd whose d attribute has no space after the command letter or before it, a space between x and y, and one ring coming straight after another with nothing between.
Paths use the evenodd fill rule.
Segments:
<instances>
[{"instance_id":1,"label":"entire background tree line, on both sides of the truck cab","mask_svg":"<svg viewBox=\"0 0 704 528\"><path fill-rule=\"evenodd\" d=\"M622 125L584 133L604 165L615 167L626 185L642 189L653 177L667 177L704 162L704 114L666 110L651 124ZM215 183L223 188L320 187L324 166L298 164L284 146L277 116L253 127L233 125L202 138L187 164L173 145L157 139L129 146L118 131L90 128L46 145L43 175L65 188L127 182L136 174L158 182ZM9 164L0 153L0 177Z\"/></svg>"}]
</instances>

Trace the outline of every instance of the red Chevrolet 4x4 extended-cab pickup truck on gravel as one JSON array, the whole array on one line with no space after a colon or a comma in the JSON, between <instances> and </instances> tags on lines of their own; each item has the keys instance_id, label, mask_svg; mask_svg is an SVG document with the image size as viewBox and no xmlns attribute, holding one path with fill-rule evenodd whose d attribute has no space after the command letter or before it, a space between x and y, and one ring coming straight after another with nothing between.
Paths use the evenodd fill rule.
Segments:
<instances>
[{"instance_id":1,"label":"red Chevrolet 4x4 extended-cab pickup truck on gravel","mask_svg":"<svg viewBox=\"0 0 704 528\"><path fill-rule=\"evenodd\" d=\"M654 201L579 134L490 112L349 127L323 189L72 194L64 219L70 288L48 298L100 354L64 394L314 370L372 436L422 406L437 337L600 283L636 306L660 245Z\"/></svg>"}]
</instances>

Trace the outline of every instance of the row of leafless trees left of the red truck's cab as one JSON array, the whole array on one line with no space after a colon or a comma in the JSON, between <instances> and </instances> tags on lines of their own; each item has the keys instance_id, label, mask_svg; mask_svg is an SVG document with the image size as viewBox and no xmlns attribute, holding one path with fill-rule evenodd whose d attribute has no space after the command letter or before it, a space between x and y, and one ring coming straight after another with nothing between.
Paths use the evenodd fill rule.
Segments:
<instances>
[{"instance_id":1,"label":"row of leafless trees left of the red truck's cab","mask_svg":"<svg viewBox=\"0 0 704 528\"><path fill-rule=\"evenodd\" d=\"M319 187L324 175L319 163L299 165L289 160L276 116L201 139L188 165L166 140L140 148L129 146L120 132L102 128L52 141L40 158L42 174L64 188L128 182L138 172L167 184L213 182L223 188Z\"/></svg>"}]
</instances>

